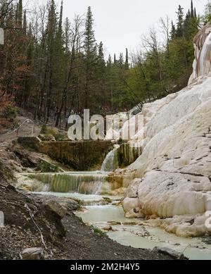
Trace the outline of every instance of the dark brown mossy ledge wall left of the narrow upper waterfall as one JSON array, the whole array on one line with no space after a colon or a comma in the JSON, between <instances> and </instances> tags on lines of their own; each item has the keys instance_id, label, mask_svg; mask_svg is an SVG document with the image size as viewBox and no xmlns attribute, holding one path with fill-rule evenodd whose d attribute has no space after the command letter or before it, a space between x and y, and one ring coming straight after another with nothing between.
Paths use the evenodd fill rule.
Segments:
<instances>
[{"instance_id":1,"label":"dark brown mossy ledge wall left of the narrow upper waterfall","mask_svg":"<svg viewBox=\"0 0 211 274\"><path fill-rule=\"evenodd\" d=\"M111 141L41 141L38 137L19 137L18 142L50 156L78 171L96 170L101 167L108 152L113 149Z\"/></svg>"}]
</instances>

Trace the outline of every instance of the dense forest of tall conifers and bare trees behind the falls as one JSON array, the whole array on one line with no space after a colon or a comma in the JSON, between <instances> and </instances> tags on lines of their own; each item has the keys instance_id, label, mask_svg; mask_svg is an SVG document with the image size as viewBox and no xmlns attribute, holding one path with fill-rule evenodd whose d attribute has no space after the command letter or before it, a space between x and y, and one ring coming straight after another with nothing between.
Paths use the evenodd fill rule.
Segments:
<instances>
[{"instance_id":1,"label":"dense forest of tall conifers and bare trees behind the falls","mask_svg":"<svg viewBox=\"0 0 211 274\"><path fill-rule=\"evenodd\" d=\"M101 115L128 111L186 87L194 59L193 37L210 20L191 1L178 7L177 22L160 18L134 52L104 56L97 42L91 7L85 15L63 18L63 1L49 0L25 11L23 0L0 0L1 126L17 108L56 127L67 126L70 113ZM160 35L161 34L161 35ZM140 34L141 35L141 34Z\"/></svg>"}]
</instances>

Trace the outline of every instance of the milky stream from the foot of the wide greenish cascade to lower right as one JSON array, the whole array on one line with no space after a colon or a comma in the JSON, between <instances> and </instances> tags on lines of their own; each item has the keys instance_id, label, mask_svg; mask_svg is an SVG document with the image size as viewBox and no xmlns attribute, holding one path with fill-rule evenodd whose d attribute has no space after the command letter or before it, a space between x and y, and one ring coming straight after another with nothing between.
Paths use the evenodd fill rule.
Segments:
<instances>
[{"instance_id":1,"label":"milky stream from the foot of the wide greenish cascade to lower right","mask_svg":"<svg viewBox=\"0 0 211 274\"><path fill-rule=\"evenodd\" d=\"M134 248L153 249L167 247L184 253L191 260L210 260L211 244L205 244L200 238L183 238L169 234L160 228L151 228L144 219L125 218L120 201L122 197L104 197L79 193L34 192L56 197L69 197L83 201L82 211L75 215L87 225L93 225L106 231L114 241ZM106 204L110 199L110 204ZM103 202L104 201L104 202Z\"/></svg>"}]
</instances>

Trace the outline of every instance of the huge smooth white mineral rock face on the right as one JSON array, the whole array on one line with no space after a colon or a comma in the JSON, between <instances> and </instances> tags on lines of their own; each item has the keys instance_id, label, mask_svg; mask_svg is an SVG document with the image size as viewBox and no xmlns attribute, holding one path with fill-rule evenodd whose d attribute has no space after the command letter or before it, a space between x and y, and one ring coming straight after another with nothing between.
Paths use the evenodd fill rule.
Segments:
<instances>
[{"instance_id":1,"label":"huge smooth white mineral rock face on the right","mask_svg":"<svg viewBox=\"0 0 211 274\"><path fill-rule=\"evenodd\" d=\"M211 47L204 46L199 61L205 50L205 59L210 56ZM207 63L206 73L211 70ZM138 193L139 213L157 218L153 225L184 237L211 233L205 225L205 213L211 211L211 73L177 94L146 104L142 115L143 153L129 167L139 179L127 191L126 216L136 208Z\"/></svg>"}]
</instances>

